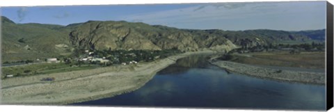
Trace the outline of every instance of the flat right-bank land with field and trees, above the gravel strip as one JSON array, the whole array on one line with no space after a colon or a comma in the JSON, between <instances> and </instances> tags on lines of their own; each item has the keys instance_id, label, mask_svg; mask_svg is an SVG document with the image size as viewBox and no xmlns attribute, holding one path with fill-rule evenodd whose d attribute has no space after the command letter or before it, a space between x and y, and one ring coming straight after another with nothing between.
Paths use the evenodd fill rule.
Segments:
<instances>
[{"instance_id":1,"label":"flat right-bank land with field and trees, above the gravel strip","mask_svg":"<svg viewBox=\"0 0 334 112\"><path fill-rule=\"evenodd\" d=\"M250 65L273 65L282 67L303 67L324 69L325 43L311 42L299 45L257 45L233 49L217 58L221 61L233 61ZM280 73L277 71L276 73Z\"/></svg>"}]
</instances>

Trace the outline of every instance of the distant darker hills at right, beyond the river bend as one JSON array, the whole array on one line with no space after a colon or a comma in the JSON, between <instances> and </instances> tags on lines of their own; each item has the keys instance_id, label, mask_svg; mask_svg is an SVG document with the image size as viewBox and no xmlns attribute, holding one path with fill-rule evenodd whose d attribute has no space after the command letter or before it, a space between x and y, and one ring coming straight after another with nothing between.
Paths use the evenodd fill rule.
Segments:
<instances>
[{"instance_id":1,"label":"distant darker hills at right, beyond the river bend","mask_svg":"<svg viewBox=\"0 0 334 112\"><path fill-rule=\"evenodd\" d=\"M203 33L213 37L227 38L234 45L253 47L256 45L269 45L269 44L280 44L280 43L303 43L310 42L312 38L308 35L302 35L299 33L290 33L288 31L273 31L268 29L259 30L247 30L247 31L222 31L222 30L186 30L191 33L197 33L201 35ZM207 35L202 35L205 37Z\"/></svg>"}]
</instances>

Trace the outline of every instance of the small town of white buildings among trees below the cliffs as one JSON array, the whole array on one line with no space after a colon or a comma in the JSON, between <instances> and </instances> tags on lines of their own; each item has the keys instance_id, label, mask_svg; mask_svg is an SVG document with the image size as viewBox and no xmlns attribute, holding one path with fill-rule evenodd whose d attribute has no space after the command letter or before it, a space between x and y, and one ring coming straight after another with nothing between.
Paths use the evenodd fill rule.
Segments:
<instances>
[{"instance_id":1,"label":"small town of white buildings among trees below the cliffs","mask_svg":"<svg viewBox=\"0 0 334 112\"><path fill-rule=\"evenodd\" d=\"M56 58L37 58L35 60L4 62L1 79L22 77L35 74L49 74L74 70L87 70L112 65L136 65L166 58L182 51L177 49L166 50L87 50L76 51L70 56ZM7 65L7 66L6 66ZM54 79L41 79L53 81Z\"/></svg>"}]
</instances>

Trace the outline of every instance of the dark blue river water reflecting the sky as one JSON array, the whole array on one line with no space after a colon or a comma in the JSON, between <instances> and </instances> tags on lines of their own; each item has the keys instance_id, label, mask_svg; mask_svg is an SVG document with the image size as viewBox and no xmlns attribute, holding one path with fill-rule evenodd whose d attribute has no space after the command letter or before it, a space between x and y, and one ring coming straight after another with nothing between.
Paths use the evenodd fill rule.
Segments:
<instances>
[{"instance_id":1,"label":"dark blue river water reflecting the sky","mask_svg":"<svg viewBox=\"0 0 334 112\"><path fill-rule=\"evenodd\" d=\"M207 63L205 56L191 56L132 93L71 105L324 111L326 95L325 86L228 73Z\"/></svg>"}]
</instances>

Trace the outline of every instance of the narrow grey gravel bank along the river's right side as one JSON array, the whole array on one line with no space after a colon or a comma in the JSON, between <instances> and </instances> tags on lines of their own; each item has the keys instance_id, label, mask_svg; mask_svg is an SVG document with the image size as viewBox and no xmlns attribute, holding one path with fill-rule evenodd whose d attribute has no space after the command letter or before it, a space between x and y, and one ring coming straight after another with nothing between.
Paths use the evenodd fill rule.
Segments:
<instances>
[{"instance_id":1,"label":"narrow grey gravel bank along the river's right side","mask_svg":"<svg viewBox=\"0 0 334 112\"><path fill-rule=\"evenodd\" d=\"M266 79L276 79L280 81L291 81L300 83L313 83L324 85L326 75L321 72L299 72L292 70L278 70L267 67L258 67L253 65L234 63L230 61L211 61L213 65L223 67L230 72L247 74L253 77Z\"/></svg>"}]
</instances>

